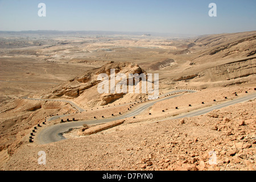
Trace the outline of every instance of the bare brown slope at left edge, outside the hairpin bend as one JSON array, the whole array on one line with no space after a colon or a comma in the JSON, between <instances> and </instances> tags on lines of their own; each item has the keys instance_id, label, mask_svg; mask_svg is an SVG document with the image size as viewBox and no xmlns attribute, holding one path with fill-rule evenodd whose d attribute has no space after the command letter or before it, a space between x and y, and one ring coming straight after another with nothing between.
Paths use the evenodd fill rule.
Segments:
<instances>
[{"instance_id":1,"label":"bare brown slope at left edge, outside the hairpin bend","mask_svg":"<svg viewBox=\"0 0 256 182\"><path fill-rule=\"evenodd\" d=\"M6 148L18 148L24 143L23 137L31 132L31 127L43 122L45 117L73 112L71 105L52 101L16 99L0 106L0 152Z\"/></svg>"}]
</instances>

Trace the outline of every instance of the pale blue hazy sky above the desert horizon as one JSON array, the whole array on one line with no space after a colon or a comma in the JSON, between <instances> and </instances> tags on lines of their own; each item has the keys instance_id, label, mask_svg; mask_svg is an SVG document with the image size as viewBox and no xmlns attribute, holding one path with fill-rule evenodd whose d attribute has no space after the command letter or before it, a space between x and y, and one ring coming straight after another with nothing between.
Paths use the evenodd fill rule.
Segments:
<instances>
[{"instance_id":1,"label":"pale blue hazy sky above the desert horizon","mask_svg":"<svg viewBox=\"0 0 256 182\"><path fill-rule=\"evenodd\" d=\"M46 4L46 17L38 4ZM217 17L210 17L210 3ZM218 34L256 30L256 0L0 0L0 30Z\"/></svg>"}]
</instances>

